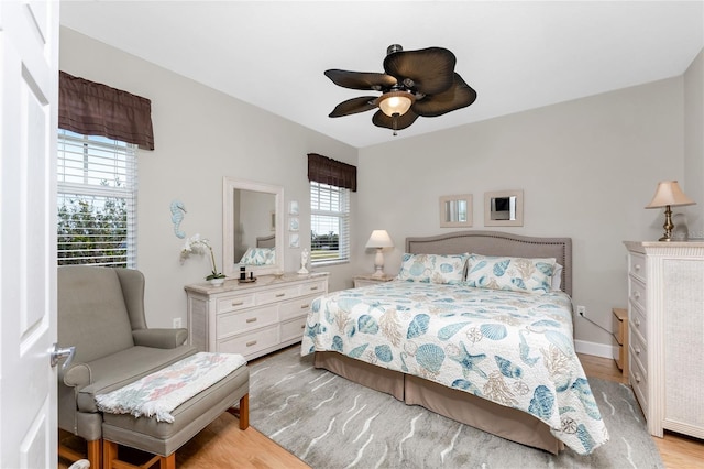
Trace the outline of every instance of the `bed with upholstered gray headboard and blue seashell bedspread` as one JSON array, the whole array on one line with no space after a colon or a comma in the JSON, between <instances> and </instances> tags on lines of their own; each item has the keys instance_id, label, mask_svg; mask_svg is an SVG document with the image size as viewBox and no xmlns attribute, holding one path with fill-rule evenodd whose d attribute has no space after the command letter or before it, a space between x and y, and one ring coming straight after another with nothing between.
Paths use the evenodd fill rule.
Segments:
<instances>
[{"instance_id":1,"label":"bed with upholstered gray headboard and blue seashell bedspread","mask_svg":"<svg viewBox=\"0 0 704 469\"><path fill-rule=\"evenodd\" d=\"M417 268L429 260L442 266ZM529 261L522 280L515 271L507 285L495 276ZM565 445L590 454L608 440L573 347L571 239L407 238L398 279L316 299L301 355L315 352L316 367L409 405L552 454Z\"/></svg>"}]
</instances>

